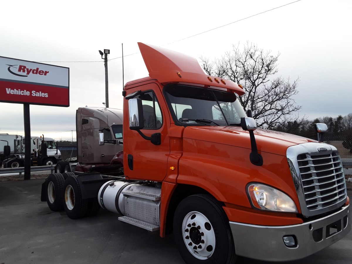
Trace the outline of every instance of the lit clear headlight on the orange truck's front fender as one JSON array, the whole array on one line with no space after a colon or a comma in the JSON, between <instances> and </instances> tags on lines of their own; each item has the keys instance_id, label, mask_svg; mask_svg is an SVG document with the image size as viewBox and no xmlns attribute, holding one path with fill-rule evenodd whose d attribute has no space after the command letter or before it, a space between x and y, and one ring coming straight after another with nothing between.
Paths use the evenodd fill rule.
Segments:
<instances>
[{"instance_id":1,"label":"lit clear headlight on the orange truck's front fender","mask_svg":"<svg viewBox=\"0 0 352 264\"><path fill-rule=\"evenodd\" d=\"M247 185L252 205L261 210L297 213L294 201L282 191L261 183Z\"/></svg>"}]
</instances>

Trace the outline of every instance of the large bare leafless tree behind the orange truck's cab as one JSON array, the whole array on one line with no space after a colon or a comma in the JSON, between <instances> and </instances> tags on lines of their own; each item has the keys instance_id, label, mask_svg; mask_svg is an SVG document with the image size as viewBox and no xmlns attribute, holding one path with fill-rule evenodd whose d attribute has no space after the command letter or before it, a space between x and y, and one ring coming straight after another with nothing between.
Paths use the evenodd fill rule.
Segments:
<instances>
[{"instance_id":1,"label":"large bare leafless tree behind the orange truck's cab","mask_svg":"<svg viewBox=\"0 0 352 264\"><path fill-rule=\"evenodd\" d=\"M247 42L243 51L239 44L221 59L210 61L201 57L207 74L219 76L241 84L245 94L239 101L245 110L251 109L258 127L274 129L288 122L303 124L306 117L293 116L302 107L295 104L293 95L298 93L299 78L285 80L275 76L280 54L270 55L256 45ZM272 77L272 80L269 79Z\"/></svg>"}]
</instances>

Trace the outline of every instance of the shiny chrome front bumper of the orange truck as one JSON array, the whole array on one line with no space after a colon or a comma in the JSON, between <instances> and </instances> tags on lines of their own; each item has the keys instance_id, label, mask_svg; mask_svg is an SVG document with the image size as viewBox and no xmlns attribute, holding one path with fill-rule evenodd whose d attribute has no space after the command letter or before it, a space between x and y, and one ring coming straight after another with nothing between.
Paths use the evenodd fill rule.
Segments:
<instances>
[{"instance_id":1,"label":"shiny chrome front bumper of the orange truck","mask_svg":"<svg viewBox=\"0 0 352 264\"><path fill-rule=\"evenodd\" d=\"M323 218L291 226L258 226L230 222L236 254L266 261L307 257L345 237L351 230L349 205ZM294 236L288 247L284 236Z\"/></svg>"}]
</instances>

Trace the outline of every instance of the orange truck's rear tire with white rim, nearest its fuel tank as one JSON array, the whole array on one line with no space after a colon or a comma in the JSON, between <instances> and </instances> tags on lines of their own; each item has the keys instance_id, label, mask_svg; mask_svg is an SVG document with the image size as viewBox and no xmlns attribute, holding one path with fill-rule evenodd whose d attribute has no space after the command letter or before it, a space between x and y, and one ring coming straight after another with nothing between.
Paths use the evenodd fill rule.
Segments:
<instances>
[{"instance_id":1,"label":"orange truck's rear tire with white rim, nearest its fuel tank","mask_svg":"<svg viewBox=\"0 0 352 264\"><path fill-rule=\"evenodd\" d=\"M67 216L71 219L78 219L86 215L88 201L82 199L81 188L77 177L68 176L64 184L63 205Z\"/></svg>"}]
</instances>

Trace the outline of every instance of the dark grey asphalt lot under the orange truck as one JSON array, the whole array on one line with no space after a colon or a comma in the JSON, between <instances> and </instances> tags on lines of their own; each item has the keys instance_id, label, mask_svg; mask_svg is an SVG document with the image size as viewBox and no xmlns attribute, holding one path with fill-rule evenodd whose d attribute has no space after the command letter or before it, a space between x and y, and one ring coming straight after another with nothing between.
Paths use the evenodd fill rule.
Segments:
<instances>
[{"instance_id":1,"label":"dark grey asphalt lot under the orange truck","mask_svg":"<svg viewBox=\"0 0 352 264\"><path fill-rule=\"evenodd\" d=\"M69 219L64 211L52 212L40 202L43 181L0 181L0 264L184 263L172 235L160 238L103 209L78 220ZM308 258L285 263L351 264L351 248L352 232ZM240 258L238 263L269 262Z\"/></svg>"}]
</instances>

